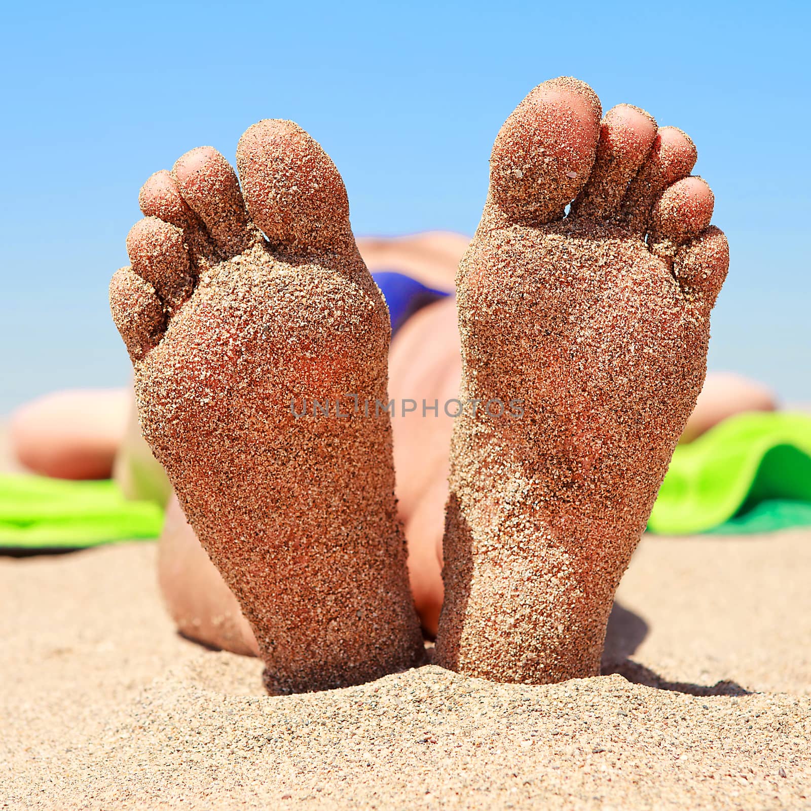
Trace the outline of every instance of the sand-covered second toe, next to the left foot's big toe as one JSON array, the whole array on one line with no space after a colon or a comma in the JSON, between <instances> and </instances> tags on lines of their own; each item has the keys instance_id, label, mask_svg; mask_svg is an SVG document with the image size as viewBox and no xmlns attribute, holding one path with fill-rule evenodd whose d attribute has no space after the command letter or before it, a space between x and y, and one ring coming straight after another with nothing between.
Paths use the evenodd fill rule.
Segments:
<instances>
[{"instance_id":1,"label":"sand-covered second toe, next to the left foot's big toe","mask_svg":"<svg viewBox=\"0 0 811 811\"><path fill-rule=\"evenodd\" d=\"M204 222L217 251L233 256L252 241L242 192L234 169L213 147L182 155L172 169L183 200Z\"/></svg>"}]
</instances>

